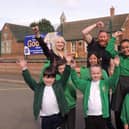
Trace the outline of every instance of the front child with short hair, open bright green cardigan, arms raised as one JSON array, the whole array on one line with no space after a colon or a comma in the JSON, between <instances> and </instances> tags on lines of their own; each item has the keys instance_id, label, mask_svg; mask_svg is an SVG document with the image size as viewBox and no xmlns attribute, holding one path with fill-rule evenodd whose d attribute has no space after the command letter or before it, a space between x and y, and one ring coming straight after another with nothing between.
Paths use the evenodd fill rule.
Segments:
<instances>
[{"instance_id":1,"label":"front child with short hair, open bright green cardigan, arms raised","mask_svg":"<svg viewBox=\"0 0 129 129\"><path fill-rule=\"evenodd\" d=\"M116 65L114 74L102 79L101 66L96 64L90 67L91 79L80 79L72 69L71 77L75 86L83 93L83 110L87 129L107 129L106 118L109 117L109 89L115 87L119 76L119 59L114 60Z\"/></svg>"}]
</instances>

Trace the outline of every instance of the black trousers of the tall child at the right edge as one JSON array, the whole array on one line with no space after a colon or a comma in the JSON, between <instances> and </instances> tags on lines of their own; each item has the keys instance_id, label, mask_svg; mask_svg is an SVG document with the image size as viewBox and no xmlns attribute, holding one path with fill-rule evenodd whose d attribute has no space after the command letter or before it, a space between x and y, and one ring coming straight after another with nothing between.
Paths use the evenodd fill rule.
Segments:
<instances>
[{"instance_id":1,"label":"black trousers of the tall child at the right edge","mask_svg":"<svg viewBox=\"0 0 129 129\"><path fill-rule=\"evenodd\" d=\"M129 77L120 76L115 93L112 95L112 109L115 112L115 122L117 129L124 129L120 119L121 108L125 95L129 93Z\"/></svg>"}]
</instances>

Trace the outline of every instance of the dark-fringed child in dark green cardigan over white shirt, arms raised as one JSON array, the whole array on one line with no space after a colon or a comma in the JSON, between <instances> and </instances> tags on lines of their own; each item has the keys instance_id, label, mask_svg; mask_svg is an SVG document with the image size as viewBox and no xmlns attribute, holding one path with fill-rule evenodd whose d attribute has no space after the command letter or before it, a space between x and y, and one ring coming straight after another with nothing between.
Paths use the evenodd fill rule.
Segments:
<instances>
[{"instance_id":1,"label":"dark-fringed child in dark green cardigan over white shirt, arms raised","mask_svg":"<svg viewBox=\"0 0 129 129\"><path fill-rule=\"evenodd\" d=\"M68 65L71 58L67 57ZM23 77L28 86L34 91L33 111L35 119L40 115L42 129L57 129L62 123L62 116L68 111L64 96L64 88L70 74L70 66L66 65L59 81L56 81L56 70L47 67L43 73L43 82L37 83L30 75L27 62L20 59L17 64L23 70Z\"/></svg>"}]
</instances>

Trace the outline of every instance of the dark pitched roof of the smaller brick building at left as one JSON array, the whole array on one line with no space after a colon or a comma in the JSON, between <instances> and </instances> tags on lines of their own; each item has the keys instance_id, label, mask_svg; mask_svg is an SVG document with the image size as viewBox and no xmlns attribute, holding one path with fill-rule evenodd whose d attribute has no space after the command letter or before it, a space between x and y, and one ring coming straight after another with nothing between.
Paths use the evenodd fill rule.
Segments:
<instances>
[{"instance_id":1,"label":"dark pitched roof of the smaller brick building at left","mask_svg":"<svg viewBox=\"0 0 129 129\"><path fill-rule=\"evenodd\" d=\"M25 36L33 34L31 27L10 23L6 23L6 25L10 28L17 42L23 42Z\"/></svg>"}]
</instances>

